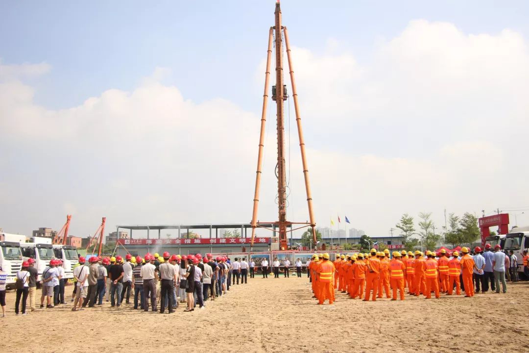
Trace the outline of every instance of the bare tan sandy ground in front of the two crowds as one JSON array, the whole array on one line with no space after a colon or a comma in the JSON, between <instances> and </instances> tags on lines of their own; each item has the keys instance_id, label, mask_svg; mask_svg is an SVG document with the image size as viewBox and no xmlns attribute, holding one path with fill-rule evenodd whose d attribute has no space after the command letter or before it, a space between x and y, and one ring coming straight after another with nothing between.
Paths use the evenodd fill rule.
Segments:
<instances>
[{"instance_id":1,"label":"bare tan sandy ground in front of the two crowds","mask_svg":"<svg viewBox=\"0 0 529 353\"><path fill-rule=\"evenodd\" d=\"M170 315L109 304L71 312L68 304L15 316L10 291L0 340L4 352L529 351L529 283L507 285L507 294L406 296L404 302L362 302L338 293L334 305L322 306L311 298L305 276L256 277L204 310L186 313L180 306Z\"/></svg>"}]
</instances>

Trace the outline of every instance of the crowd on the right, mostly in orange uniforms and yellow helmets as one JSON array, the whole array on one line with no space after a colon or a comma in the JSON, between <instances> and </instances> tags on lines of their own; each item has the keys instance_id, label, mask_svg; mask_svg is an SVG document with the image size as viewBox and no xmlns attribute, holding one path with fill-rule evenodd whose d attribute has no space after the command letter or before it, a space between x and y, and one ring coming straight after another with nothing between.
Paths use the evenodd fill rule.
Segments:
<instances>
[{"instance_id":1,"label":"crowd on the right, mostly in orange uniforms and yellow helmets","mask_svg":"<svg viewBox=\"0 0 529 353\"><path fill-rule=\"evenodd\" d=\"M473 255L470 253L472 252ZM524 252L524 268L527 269L529 256ZM439 252L394 251L390 258L389 250L379 252L371 249L369 254L336 255L331 261L329 254L314 254L307 261L307 269L312 283L312 292L318 304L335 301L335 291L346 293L350 298L363 298L363 301L376 301L382 298L400 300L405 298L405 288L409 295L424 295L426 299L440 298L441 294L466 297L489 291L507 292L506 273L509 273L511 260L496 245L490 244L485 251L476 247L473 251L461 248L461 253L446 250ZM515 268L516 271L516 268Z\"/></svg>"}]
</instances>

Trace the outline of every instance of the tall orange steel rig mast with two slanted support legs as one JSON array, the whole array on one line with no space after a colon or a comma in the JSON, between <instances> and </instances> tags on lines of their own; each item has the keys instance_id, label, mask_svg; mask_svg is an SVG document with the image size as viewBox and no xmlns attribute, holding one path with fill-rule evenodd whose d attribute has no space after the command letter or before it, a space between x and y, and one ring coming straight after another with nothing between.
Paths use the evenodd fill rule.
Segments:
<instances>
[{"instance_id":1,"label":"tall orange steel rig mast with two slanted support legs","mask_svg":"<svg viewBox=\"0 0 529 353\"><path fill-rule=\"evenodd\" d=\"M256 228L260 227L257 220L257 210L259 204L259 186L261 182L261 169L262 169L262 152L265 147L265 126L266 126L266 112L268 102L268 89L269 89L269 78L270 78L270 60L272 56L272 40L275 32L275 49L276 49L276 86L272 87L272 99L276 102L277 111L277 165L276 165L276 177L277 177L277 200L278 200L278 221L277 222L266 222L273 223L276 229L273 231L279 232L279 248L281 250L287 249L287 227L290 227L290 231L296 229L302 229L305 227L312 228L313 241L316 243L316 222L314 220L314 214L312 210L312 196L311 188L308 179L308 167L305 156L305 142L303 139L303 130L301 125L301 117L298 108L296 82L294 79L294 69L292 67L292 61L290 58L290 45L288 42L287 28L281 26L281 7L279 0L276 3L275 11L275 26L270 28L268 35L268 56L267 56L267 68L265 73L265 93L263 94L263 105L261 114L261 135L259 139L259 155L257 159L257 175L256 175L256 189L253 197L253 214L252 214L252 240L251 247L253 248L253 240L256 233ZM284 84L283 78L283 35L285 36L285 46L288 58L288 67L290 74L290 83L292 87L292 95L294 99L294 107L296 111L296 123L299 137L299 148L301 150L301 157L303 162L303 174L305 177L305 191L307 194L307 205L310 222L289 222L287 221L287 183L286 183L286 167L285 167L285 113L284 113L284 101L288 98L286 85ZM292 229L293 224L302 225L296 229Z\"/></svg>"}]
</instances>

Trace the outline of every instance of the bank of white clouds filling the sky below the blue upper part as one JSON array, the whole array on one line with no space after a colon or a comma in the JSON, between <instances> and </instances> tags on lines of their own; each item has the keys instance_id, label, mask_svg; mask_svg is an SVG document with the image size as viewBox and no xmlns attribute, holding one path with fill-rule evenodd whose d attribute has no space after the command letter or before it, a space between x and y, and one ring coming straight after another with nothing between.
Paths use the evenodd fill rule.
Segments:
<instances>
[{"instance_id":1,"label":"bank of white clouds filling the sky below the blue upper part","mask_svg":"<svg viewBox=\"0 0 529 353\"><path fill-rule=\"evenodd\" d=\"M334 40L329 49L320 56L293 48L318 224L345 212L352 227L384 235L403 212L433 211L440 227L444 207L462 213L529 204L529 59L521 35L466 34L421 20L378 43L367 64L337 52ZM17 70L4 77L31 72ZM109 89L60 111L36 105L27 84L0 83L7 225L62 224L57 210L77 210L72 232L83 235L101 216L111 229L248 222L260 107L249 113L222 99L196 104L160 83L168 74L158 68L132 92ZM276 217L275 121L268 116L260 220ZM287 213L305 221L294 120L291 128ZM19 219L21 211L32 216Z\"/></svg>"}]
</instances>

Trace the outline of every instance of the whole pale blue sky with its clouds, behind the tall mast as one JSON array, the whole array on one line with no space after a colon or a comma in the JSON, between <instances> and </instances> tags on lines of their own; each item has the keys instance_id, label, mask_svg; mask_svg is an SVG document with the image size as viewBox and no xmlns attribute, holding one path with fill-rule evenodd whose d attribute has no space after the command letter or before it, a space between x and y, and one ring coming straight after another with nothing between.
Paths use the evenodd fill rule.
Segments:
<instances>
[{"instance_id":1,"label":"whole pale blue sky with its clouds, behind the tall mast","mask_svg":"<svg viewBox=\"0 0 529 353\"><path fill-rule=\"evenodd\" d=\"M83 235L103 215L111 229L249 221L274 3L1 2L0 227L67 212ZM529 128L529 3L281 7L318 224L340 212L385 235L404 212L440 225L444 208L529 205L529 167L506 173ZM275 217L272 110L262 219ZM291 119L289 215L305 220Z\"/></svg>"}]
</instances>

